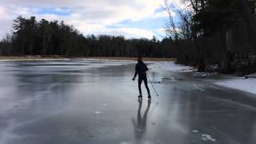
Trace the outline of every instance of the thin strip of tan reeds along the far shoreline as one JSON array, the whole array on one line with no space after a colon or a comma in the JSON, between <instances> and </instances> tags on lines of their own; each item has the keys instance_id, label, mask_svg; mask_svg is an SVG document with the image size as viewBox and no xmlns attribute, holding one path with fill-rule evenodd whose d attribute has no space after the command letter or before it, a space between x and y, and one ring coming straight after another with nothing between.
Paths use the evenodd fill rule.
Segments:
<instances>
[{"instance_id":1,"label":"thin strip of tan reeds along the far shoreline","mask_svg":"<svg viewBox=\"0 0 256 144\"><path fill-rule=\"evenodd\" d=\"M72 57L73 58L73 57ZM104 59L104 60L129 60L136 61L137 58L126 57L74 57L74 58L91 58L91 59ZM0 56L0 61L26 61L26 60L63 60L70 59L67 57L54 56ZM176 61L176 58L142 58L143 61Z\"/></svg>"}]
</instances>

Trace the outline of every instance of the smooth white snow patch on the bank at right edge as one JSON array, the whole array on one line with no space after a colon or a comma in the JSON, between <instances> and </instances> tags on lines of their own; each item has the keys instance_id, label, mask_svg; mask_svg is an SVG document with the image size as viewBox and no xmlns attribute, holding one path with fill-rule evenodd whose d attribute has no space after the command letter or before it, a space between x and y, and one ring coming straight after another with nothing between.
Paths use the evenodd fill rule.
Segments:
<instances>
[{"instance_id":1,"label":"smooth white snow patch on the bank at right edge","mask_svg":"<svg viewBox=\"0 0 256 144\"><path fill-rule=\"evenodd\" d=\"M231 89L246 91L256 94L256 78L234 78L222 82L215 82L218 86L225 86Z\"/></svg>"}]
</instances>

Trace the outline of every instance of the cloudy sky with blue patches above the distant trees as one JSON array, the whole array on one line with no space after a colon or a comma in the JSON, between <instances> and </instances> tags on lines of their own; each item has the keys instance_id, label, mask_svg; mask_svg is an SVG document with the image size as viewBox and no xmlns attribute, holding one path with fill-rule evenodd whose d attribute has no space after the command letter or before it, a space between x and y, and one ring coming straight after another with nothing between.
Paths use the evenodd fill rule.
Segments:
<instances>
[{"instance_id":1,"label":"cloudy sky with blue patches above the distant trees","mask_svg":"<svg viewBox=\"0 0 256 144\"><path fill-rule=\"evenodd\" d=\"M169 0L178 3L179 0ZM82 34L162 39L168 18L163 0L0 0L0 38L18 15L64 21Z\"/></svg>"}]
</instances>

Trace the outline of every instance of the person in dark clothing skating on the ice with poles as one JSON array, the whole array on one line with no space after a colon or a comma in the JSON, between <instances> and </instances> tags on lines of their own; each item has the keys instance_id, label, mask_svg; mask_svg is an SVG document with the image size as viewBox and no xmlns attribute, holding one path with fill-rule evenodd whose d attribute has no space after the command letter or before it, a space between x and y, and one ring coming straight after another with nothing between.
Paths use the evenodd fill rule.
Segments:
<instances>
[{"instance_id":1,"label":"person in dark clothing skating on the ice with poles","mask_svg":"<svg viewBox=\"0 0 256 144\"><path fill-rule=\"evenodd\" d=\"M138 58L138 63L135 66L135 74L134 74L134 78L132 79L133 81L135 80L137 74L138 74L138 91L139 91L139 95L138 98L142 98L142 81L145 84L146 90L147 90L147 94L148 94L148 98L151 98L150 95L150 89L149 86L147 86L147 78L146 78L146 71L149 70L146 66L146 64L144 62L142 62L142 58Z\"/></svg>"}]
</instances>

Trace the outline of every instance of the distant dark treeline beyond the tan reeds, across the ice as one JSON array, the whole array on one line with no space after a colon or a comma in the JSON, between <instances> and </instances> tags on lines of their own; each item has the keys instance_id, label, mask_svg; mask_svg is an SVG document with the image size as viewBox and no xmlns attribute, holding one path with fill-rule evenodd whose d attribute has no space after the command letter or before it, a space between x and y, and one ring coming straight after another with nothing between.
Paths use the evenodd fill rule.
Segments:
<instances>
[{"instance_id":1,"label":"distant dark treeline beyond the tan reeds, across the ice","mask_svg":"<svg viewBox=\"0 0 256 144\"><path fill-rule=\"evenodd\" d=\"M1 55L61 55L64 57L175 57L174 41L152 38L126 39L122 36L85 37L64 22L37 22L35 17L14 20L13 34L0 42Z\"/></svg>"}]
</instances>

